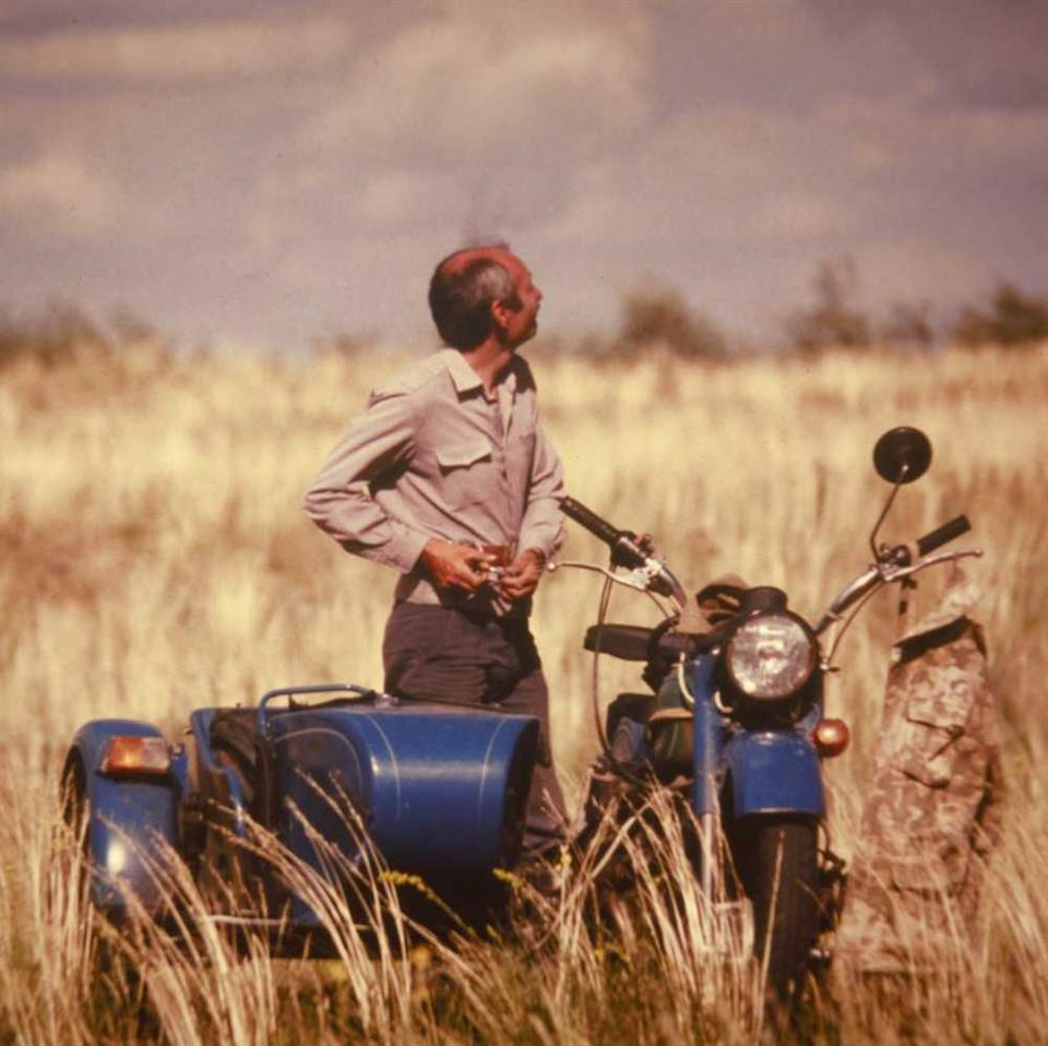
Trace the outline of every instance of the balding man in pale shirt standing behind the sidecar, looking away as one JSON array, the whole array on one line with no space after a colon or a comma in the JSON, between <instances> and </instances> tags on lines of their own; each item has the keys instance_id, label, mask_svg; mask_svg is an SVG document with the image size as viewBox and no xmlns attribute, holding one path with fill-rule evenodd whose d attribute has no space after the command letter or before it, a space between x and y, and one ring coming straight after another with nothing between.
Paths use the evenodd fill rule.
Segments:
<instances>
[{"instance_id":1,"label":"balding man in pale shirt standing behind the sidecar, looking away","mask_svg":"<svg viewBox=\"0 0 1048 1046\"><path fill-rule=\"evenodd\" d=\"M527 627L563 535L563 480L516 350L541 293L503 246L433 272L429 305L449 346L376 389L306 495L310 518L350 552L402 577L382 658L390 693L478 704L541 724L525 857L561 836L548 691Z\"/></svg>"}]
</instances>

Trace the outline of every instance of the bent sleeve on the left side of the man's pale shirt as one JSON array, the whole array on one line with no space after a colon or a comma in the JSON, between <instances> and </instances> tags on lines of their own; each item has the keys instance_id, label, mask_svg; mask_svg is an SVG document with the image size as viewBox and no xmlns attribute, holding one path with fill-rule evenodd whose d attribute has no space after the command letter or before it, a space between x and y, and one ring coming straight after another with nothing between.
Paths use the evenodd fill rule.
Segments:
<instances>
[{"instance_id":1,"label":"bent sleeve on the left side of the man's pale shirt","mask_svg":"<svg viewBox=\"0 0 1048 1046\"><path fill-rule=\"evenodd\" d=\"M410 461L415 412L410 394L373 394L302 501L309 518L347 551L403 573L418 561L429 535L390 516L372 497L372 484Z\"/></svg>"}]
</instances>

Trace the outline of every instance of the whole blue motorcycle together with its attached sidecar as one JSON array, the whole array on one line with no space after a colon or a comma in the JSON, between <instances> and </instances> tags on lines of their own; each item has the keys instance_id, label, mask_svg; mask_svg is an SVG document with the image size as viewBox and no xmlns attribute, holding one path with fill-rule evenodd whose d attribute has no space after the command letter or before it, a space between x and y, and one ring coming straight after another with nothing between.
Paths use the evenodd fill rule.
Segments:
<instances>
[{"instance_id":1,"label":"whole blue motorcycle together with its attached sidecar","mask_svg":"<svg viewBox=\"0 0 1048 1046\"><path fill-rule=\"evenodd\" d=\"M878 442L874 462L893 484L870 538L874 562L813 627L778 589L719 586L727 603L708 628L688 625L687 595L651 542L567 498L564 513L610 549L600 571L654 598L652 629L606 623L584 645L645 663L651 696L610 705L602 772L630 788L684 797L699 825L694 855L704 893L722 885L730 853L752 905L758 947L779 990L809 960L818 899L835 865L818 846L825 817L820 761L843 751L847 728L822 716L823 679L846 611L883 585L975 552L932 552L968 530L958 516L915 545L876 536L900 487L928 467L914 429ZM132 908L170 907L165 876L182 860L215 905L215 918L272 929L281 940L322 934L315 894L306 896L260 849L276 841L283 864L317 876L373 868L427 884L440 912L485 915L504 896L500 870L517 866L539 730L529 716L448 700L415 700L357 684L282 687L254 708L204 706L184 739L153 724L96 720L75 734L62 770L68 820L83 827L93 904L114 922ZM723 845L727 844L727 847ZM492 875L495 873L495 875ZM492 888L492 882L498 885ZM234 889L239 884L242 889Z\"/></svg>"}]
</instances>

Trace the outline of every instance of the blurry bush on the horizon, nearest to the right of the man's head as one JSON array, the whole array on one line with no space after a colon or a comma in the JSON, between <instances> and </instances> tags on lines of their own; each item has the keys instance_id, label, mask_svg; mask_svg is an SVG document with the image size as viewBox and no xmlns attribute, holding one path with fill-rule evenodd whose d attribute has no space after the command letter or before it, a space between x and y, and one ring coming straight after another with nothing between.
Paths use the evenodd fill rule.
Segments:
<instances>
[{"instance_id":1,"label":"blurry bush on the horizon, nearest to the right of the man's head","mask_svg":"<svg viewBox=\"0 0 1048 1046\"><path fill-rule=\"evenodd\" d=\"M679 290L662 285L627 293L612 343L614 352L621 355L651 346L690 359L723 359L728 353L720 329L688 305Z\"/></svg>"}]
</instances>

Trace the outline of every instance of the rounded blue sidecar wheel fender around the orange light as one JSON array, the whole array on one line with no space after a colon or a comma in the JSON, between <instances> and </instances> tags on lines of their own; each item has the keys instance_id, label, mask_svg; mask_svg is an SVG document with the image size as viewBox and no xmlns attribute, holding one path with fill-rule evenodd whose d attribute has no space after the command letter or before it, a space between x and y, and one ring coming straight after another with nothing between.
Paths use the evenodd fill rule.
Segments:
<instances>
[{"instance_id":1,"label":"rounded blue sidecar wheel fender around the orange light","mask_svg":"<svg viewBox=\"0 0 1048 1046\"><path fill-rule=\"evenodd\" d=\"M151 863L163 859L164 843L178 842L178 777L114 776L102 772L117 735L163 737L148 723L94 720L78 732L66 759L66 778L80 777L86 804L84 846L92 864L92 903L112 915L128 906L129 892L154 907L160 890Z\"/></svg>"}]
</instances>

